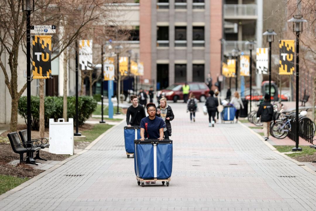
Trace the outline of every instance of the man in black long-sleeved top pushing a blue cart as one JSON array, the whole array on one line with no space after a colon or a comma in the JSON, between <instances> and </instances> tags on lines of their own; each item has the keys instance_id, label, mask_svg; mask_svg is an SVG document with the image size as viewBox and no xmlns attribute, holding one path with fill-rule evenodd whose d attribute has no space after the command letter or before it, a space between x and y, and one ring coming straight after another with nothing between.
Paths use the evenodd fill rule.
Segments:
<instances>
[{"instance_id":1,"label":"man in black long-sleeved top pushing a blue cart","mask_svg":"<svg viewBox=\"0 0 316 211\"><path fill-rule=\"evenodd\" d=\"M146 117L145 109L142 105L138 104L138 99L136 95L131 96L131 102L132 105L128 107L126 112L126 123L128 127L139 126L141 120Z\"/></svg>"}]
</instances>

